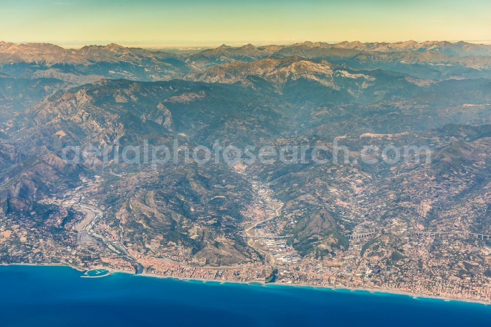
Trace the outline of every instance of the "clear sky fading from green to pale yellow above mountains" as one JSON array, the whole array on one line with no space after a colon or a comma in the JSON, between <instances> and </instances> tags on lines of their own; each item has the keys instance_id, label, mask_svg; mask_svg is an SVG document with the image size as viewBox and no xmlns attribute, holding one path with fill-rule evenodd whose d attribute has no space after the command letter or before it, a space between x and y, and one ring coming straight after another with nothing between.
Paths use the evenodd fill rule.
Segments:
<instances>
[{"instance_id":1,"label":"clear sky fading from green to pale yellow above mountains","mask_svg":"<svg viewBox=\"0 0 491 327\"><path fill-rule=\"evenodd\" d=\"M490 0L0 0L0 40L199 46L486 41Z\"/></svg>"}]
</instances>

